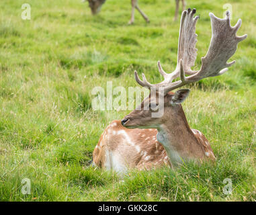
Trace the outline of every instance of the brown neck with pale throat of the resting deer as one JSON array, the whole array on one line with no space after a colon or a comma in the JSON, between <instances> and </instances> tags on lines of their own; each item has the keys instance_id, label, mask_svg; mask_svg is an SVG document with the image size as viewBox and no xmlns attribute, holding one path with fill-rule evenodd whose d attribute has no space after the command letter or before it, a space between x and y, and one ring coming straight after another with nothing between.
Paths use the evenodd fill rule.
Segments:
<instances>
[{"instance_id":1,"label":"brown neck with pale throat of the resting deer","mask_svg":"<svg viewBox=\"0 0 256 215\"><path fill-rule=\"evenodd\" d=\"M163 144L171 164L177 166L198 153L202 154L202 147L189 128L182 108L178 114L170 115L171 119L167 119L157 128L157 140Z\"/></svg>"}]
</instances>

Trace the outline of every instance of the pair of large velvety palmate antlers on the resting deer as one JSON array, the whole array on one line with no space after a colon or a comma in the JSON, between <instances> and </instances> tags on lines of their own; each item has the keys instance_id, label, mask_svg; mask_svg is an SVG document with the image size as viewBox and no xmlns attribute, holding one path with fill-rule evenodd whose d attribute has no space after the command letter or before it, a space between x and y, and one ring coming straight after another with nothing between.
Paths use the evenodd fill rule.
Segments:
<instances>
[{"instance_id":1,"label":"pair of large velvety palmate antlers on the resting deer","mask_svg":"<svg viewBox=\"0 0 256 215\"><path fill-rule=\"evenodd\" d=\"M213 13L210 13L212 22L212 39L206 56L202 57L202 66L199 71L192 71L196 60L197 49L197 34L196 22L199 16L194 17L196 9L187 9L181 15L181 25L179 30L179 48L177 56L177 67L173 73L165 73L160 62L158 62L159 72L164 77L164 81L158 84L151 84L146 81L145 75L142 73L142 80L138 77L135 71L135 79L139 85L151 89L155 87L164 87L164 93L182 87L187 83L193 83L206 77L214 77L222 75L228 70L235 61L230 63L227 60L236 52L237 44L247 38L247 34L236 36L242 21L239 19L237 24L230 26L230 12L226 11L226 19L220 19ZM185 77L185 75L190 75ZM173 82L174 79L180 76L179 81Z\"/></svg>"}]
</instances>

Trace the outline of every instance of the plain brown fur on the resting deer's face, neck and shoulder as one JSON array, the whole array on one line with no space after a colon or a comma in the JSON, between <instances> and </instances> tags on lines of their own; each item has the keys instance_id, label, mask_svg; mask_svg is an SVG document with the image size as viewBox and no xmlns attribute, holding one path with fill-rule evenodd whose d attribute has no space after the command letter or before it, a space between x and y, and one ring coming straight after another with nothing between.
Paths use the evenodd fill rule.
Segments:
<instances>
[{"instance_id":1,"label":"plain brown fur on the resting deer's face, neck and shoulder","mask_svg":"<svg viewBox=\"0 0 256 215\"><path fill-rule=\"evenodd\" d=\"M141 103L141 110L134 110L124 118L128 119L124 124L127 128L157 128L168 142L162 142L162 144L173 166L177 164L177 156L171 155L173 152L183 161L209 159L215 161L212 148L204 134L189 128L180 104L183 97L188 95L187 93L185 89L180 90L180 93L167 93L164 96L164 114L161 118L152 118L153 110L144 110L144 105L147 103L158 101L158 93L144 99ZM177 103L172 103L172 101L177 101Z\"/></svg>"}]
</instances>

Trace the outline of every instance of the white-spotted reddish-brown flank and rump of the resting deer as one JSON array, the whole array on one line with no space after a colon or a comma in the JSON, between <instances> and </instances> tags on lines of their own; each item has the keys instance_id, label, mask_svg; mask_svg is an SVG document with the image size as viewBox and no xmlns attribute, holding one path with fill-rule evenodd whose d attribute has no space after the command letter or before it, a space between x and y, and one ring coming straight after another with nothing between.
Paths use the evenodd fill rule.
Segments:
<instances>
[{"instance_id":1,"label":"white-spotted reddish-brown flank and rump of the resting deer","mask_svg":"<svg viewBox=\"0 0 256 215\"><path fill-rule=\"evenodd\" d=\"M139 151L133 145L131 146L123 135L113 134L114 131L120 130L126 132L134 146L140 148ZM170 165L165 149L157 141L156 135L156 129L128 129L122 126L120 120L114 120L101 134L93 150L93 163L98 167L104 167L105 148L108 148L108 150L118 151L130 168L151 169ZM145 159L147 156L150 156L148 160Z\"/></svg>"}]
</instances>

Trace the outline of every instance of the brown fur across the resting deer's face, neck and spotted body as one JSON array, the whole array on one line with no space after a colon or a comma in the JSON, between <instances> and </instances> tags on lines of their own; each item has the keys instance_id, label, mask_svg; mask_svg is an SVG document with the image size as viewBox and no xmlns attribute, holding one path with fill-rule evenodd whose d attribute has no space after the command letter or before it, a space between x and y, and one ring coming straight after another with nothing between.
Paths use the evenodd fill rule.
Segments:
<instances>
[{"instance_id":1,"label":"brown fur across the resting deer's face, neck and spotted body","mask_svg":"<svg viewBox=\"0 0 256 215\"><path fill-rule=\"evenodd\" d=\"M169 159L172 157L168 157L165 146L157 140L157 124L163 126L172 148L175 148L182 159L215 161L212 148L204 134L189 128L181 104L171 105L173 97L173 92L165 95L165 113L162 118L151 118L151 110L144 110L144 105L151 103L151 99L158 100L149 96L141 103L141 110L134 110L126 116L130 120L125 125L128 128L122 126L120 120L111 122L93 150L93 164L97 167L107 167L106 163L111 163L109 161L118 155L119 159L122 158L120 163L127 168L151 169L171 165ZM150 129L139 129L150 127L151 124L153 127ZM131 126L139 128L129 129ZM114 154L109 156L106 152Z\"/></svg>"}]
</instances>

